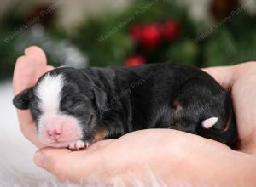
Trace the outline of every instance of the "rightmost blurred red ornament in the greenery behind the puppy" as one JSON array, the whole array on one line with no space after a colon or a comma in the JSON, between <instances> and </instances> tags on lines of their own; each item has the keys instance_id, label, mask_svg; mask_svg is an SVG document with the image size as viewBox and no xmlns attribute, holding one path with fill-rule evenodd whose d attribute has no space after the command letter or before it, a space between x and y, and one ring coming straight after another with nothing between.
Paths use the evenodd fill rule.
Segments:
<instances>
[{"instance_id":1,"label":"rightmost blurred red ornament in the greenery behind the puppy","mask_svg":"<svg viewBox=\"0 0 256 187\"><path fill-rule=\"evenodd\" d=\"M173 41L179 36L180 30L180 26L176 21L167 20L161 26L161 35L164 39Z\"/></svg>"}]
</instances>

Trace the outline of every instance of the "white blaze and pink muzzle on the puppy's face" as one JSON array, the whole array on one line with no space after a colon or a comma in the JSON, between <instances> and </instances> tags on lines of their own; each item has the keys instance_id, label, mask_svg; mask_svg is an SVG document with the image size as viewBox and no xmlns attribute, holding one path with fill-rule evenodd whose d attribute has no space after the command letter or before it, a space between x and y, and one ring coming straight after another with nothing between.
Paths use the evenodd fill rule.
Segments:
<instances>
[{"instance_id":1,"label":"white blaze and pink muzzle on the puppy's face","mask_svg":"<svg viewBox=\"0 0 256 187\"><path fill-rule=\"evenodd\" d=\"M47 74L35 89L39 99L38 107L42 115L38 120L38 137L47 145L66 147L82 138L79 121L61 113L62 88L65 79L62 75Z\"/></svg>"}]
</instances>

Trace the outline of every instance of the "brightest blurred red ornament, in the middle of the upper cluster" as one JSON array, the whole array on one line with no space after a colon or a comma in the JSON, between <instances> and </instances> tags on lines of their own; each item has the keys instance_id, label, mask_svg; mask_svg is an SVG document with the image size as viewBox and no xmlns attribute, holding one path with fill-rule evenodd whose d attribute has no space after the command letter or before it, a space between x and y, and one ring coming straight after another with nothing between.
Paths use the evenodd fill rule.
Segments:
<instances>
[{"instance_id":1,"label":"brightest blurred red ornament, in the middle of the upper cluster","mask_svg":"<svg viewBox=\"0 0 256 187\"><path fill-rule=\"evenodd\" d=\"M141 42L145 47L154 48L160 43L160 40L160 26L157 24L143 26Z\"/></svg>"}]
</instances>

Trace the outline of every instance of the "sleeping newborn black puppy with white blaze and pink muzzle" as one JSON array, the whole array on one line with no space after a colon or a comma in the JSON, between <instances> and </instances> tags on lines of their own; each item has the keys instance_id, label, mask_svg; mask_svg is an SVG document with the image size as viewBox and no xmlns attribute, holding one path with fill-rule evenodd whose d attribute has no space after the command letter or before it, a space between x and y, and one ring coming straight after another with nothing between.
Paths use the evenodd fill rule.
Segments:
<instances>
[{"instance_id":1,"label":"sleeping newborn black puppy with white blaze and pink muzzle","mask_svg":"<svg viewBox=\"0 0 256 187\"><path fill-rule=\"evenodd\" d=\"M79 150L146 128L236 141L230 94L187 65L56 68L15 96L14 105L30 109L38 138L53 147Z\"/></svg>"}]
</instances>

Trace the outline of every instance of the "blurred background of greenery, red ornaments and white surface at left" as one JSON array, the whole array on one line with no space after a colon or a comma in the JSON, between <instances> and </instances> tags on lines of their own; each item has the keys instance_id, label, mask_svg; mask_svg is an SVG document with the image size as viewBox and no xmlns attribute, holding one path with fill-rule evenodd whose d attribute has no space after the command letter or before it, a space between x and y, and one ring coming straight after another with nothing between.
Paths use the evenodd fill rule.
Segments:
<instances>
[{"instance_id":1,"label":"blurred background of greenery, red ornaments and white surface at left","mask_svg":"<svg viewBox=\"0 0 256 187\"><path fill-rule=\"evenodd\" d=\"M49 64L74 67L233 65L256 59L255 23L256 0L1 0L0 185L50 179L33 165L36 148L12 106L15 59L25 48L38 45Z\"/></svg>"}]
</instances>

